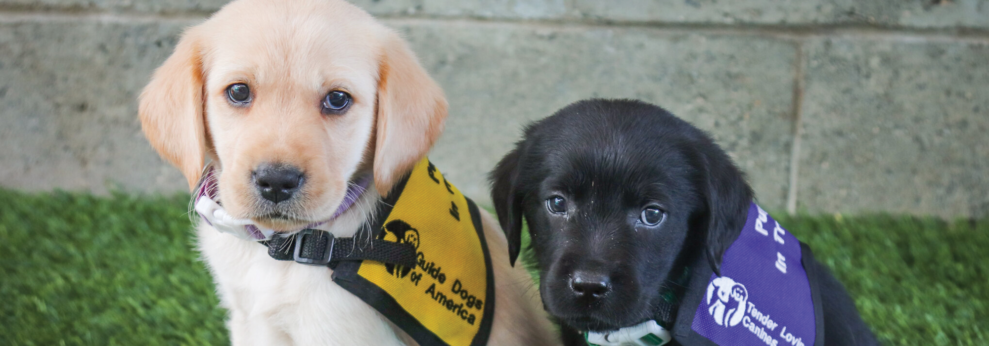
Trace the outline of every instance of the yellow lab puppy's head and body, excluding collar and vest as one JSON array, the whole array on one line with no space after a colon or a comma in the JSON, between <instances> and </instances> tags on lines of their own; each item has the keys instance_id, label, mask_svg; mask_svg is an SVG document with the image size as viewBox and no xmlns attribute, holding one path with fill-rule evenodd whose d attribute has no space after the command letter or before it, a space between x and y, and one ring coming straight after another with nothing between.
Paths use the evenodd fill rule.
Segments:
<instances>
[{"instance_id":1,"label":"yellow lab puppy's head and body, excluding collar and vest","mask_svg":"<svg viewBox=\"0 0 989 346\"><path fill-rule=\"evenodd\" d=\"M237 0L183 35L141 93L139 115L151 145L190 188L209 183L228 218L281 233L322 222L347 237L425 156L447 103L405 42L355 6ZM359 176L373 178L348 201ZM557 344L497 223L480 218L494 270L488 343ZM234 345L416 344L331 281L331 269L276 261L217 229L200 222L199 248Z\"/></svg>"}]
</instances>

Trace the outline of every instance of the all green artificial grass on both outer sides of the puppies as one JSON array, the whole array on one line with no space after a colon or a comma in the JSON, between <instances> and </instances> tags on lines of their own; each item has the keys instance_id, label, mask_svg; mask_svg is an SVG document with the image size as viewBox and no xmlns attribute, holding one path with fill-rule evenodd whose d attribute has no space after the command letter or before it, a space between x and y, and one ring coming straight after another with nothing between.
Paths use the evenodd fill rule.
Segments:
<instances>
[{"instance_id":1,"label":"all green artificial grass on both outer sides of the puppies","mask_svg":"<svg viewBox=\"0 0 989 346\"><path fill-rule=\"evenodd\" d=\"M0 190L0 345L222 345L188 196ZM785 216L886 345L989 345L989 220Z\"/></svg>"}]
</instances>

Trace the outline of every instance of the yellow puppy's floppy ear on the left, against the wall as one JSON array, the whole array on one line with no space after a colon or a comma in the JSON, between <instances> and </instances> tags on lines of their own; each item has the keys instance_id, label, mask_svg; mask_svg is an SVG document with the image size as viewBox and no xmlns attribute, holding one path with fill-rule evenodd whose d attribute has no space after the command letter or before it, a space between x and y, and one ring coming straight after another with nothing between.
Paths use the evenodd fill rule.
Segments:
<instances>
[{"instance_id":1,"label":"yellow puppy's floppy ear on the left, against the wall","mask_svg":"<svg viewBox=\"0 0 989 346\"><path fill-rule=\"evenodd\" d=\"M182 171L190 190L203 174L206 153L203 79L200 39L191 29L154 71L138 99L144 136L162 158Z\"/></svg>"}]
</instances>

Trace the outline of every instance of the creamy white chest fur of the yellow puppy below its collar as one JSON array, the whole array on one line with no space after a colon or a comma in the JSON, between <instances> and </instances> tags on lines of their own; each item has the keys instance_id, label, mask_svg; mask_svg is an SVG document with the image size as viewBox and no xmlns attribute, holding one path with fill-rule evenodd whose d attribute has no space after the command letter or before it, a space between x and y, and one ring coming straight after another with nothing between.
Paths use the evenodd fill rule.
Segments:
<instances>
[{"instance_id":1,"label":"creamy white chest fur of the yellow puppy below its collar","mask_svg":"<svg viewBox=\"0 0 989 346\"><path fill-rule=\"evenodd\" d=\"M333 221L351 236L380 200L372 189ZM371 305L330 279L326 267L273 260L267 248L198 226L199 247L216 280L234 345L405 345Z\"/></svg>"}]
</instances>

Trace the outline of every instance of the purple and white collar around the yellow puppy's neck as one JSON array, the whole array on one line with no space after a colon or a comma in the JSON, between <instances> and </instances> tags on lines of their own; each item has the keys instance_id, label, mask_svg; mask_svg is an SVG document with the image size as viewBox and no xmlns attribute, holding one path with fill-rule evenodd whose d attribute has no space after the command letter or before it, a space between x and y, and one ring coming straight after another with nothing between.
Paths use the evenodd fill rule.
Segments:
<instances>
[{"instance_id":1,"label":"purple and white collar around the yellow puppy's neck","mask_svg":"<svg viewBox=\"0 0 989 346\"><path fill-rule=\"evenodd\" d=\"M218 173L217 169L213 166L208 166L206 168L203 178L200 179L199 187L196 189L196 213L200 217L203 217L207 223L209 223L217 230L230 233L245 240L268 240L271 236L276 233L274 229L265 228L254 224L254 221L249 218L235 218L226 214L224 207L220 205L220 201L217 199L218 195ZM315 228L321 229L320 227L330 220L333 220L337 216L343 215L347 210L350 209L360 199L364 191L367 190L368 185L371 184L371 176L363 175L352 182L348 182L347 192L343 195L343 201L340 202L340 206L336 208L336 212L333 216L328 219L311 223L303 227L302 229ZM322 229L326 230L326 229Z\"/></svg>"}]
</instances>

